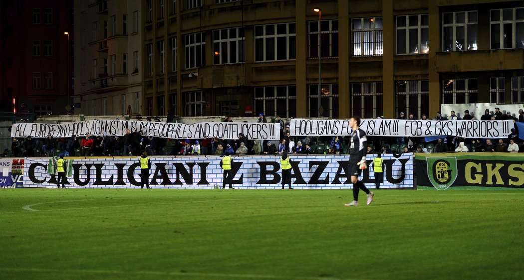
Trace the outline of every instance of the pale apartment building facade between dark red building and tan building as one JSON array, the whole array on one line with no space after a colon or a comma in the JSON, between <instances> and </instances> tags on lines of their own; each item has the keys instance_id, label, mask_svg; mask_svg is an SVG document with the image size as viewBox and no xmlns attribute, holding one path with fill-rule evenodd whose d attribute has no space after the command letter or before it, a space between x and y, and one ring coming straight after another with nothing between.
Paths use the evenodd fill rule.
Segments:
<instances>
[{"instance_id":1,"label":"pale apartment building facade between dark red building and tan building","mask_svg":"<svg viewBox=\"0 0 524 280\"><path fill-rule=\"evenodd\" d=\"M74 1L75 103L77 114L141 113L141 3L131 0Z\"/></svg>"}]
</instances>

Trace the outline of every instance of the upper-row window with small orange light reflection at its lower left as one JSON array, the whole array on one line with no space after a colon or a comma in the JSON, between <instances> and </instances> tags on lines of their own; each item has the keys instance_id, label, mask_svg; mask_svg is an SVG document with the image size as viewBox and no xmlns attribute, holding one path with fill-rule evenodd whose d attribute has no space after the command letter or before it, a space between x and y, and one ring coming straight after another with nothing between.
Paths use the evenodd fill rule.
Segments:
<instances>
[{"instance_id":1,"label":"upper-row window with small orange light reflection at its lower left","mask_svg":"<svg viewBox=\"0 0 524 280\"><path fill-rule=\"evenodd\" d=\"M213 64L244 62L244 28L213 30Z\"/></svg>"}]
</instances>

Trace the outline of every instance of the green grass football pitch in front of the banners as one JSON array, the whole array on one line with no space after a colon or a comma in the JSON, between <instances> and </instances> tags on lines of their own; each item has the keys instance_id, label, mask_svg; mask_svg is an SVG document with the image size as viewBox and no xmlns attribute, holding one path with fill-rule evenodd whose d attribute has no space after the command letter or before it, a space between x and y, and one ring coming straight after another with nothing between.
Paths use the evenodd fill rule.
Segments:
<instances>
[{"instance_id":1,"label":"green grass football pitch in front of the banners","mask_svg":"<svg viewBox=\"0 0 524 280\"><path fill-rule=\"evenodd\" d=\"M3 189L0 279L522 279L524 192Z\"/></svg>"}]
</instances>

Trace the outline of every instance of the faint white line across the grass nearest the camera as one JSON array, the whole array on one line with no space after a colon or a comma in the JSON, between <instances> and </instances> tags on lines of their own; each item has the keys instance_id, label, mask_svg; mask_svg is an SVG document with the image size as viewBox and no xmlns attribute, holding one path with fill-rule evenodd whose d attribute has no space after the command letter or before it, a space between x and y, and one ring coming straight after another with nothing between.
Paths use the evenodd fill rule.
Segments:
<instances>
[{"instance_id":1,"label":"faint white line across the grass nearest the camera","mask_svg":"<svg viewBox=\"0 0 524 280\"><path fill-rule=\"evenodd\" d=\"M32 268L32 267L0 267L0 271L29 271L29 272L50 272L50 273L76 273L76 274L141 274L141 275L176 275L176 276L204 276L224 277L224 278L257 278L257 279L307 279L307 280L342 280L336 277L302 277L302 276L279 276L279 275L259 275L259 274L228 274L228 273L204 273L204 272L163 272L163 271L116 271L116 270L54 270L51 268ZM345 280L352 280L344 278ZM353 279L355 280L355 279ZM362 280L362 279L361 279Z\"/></svg>"}]
</instances>

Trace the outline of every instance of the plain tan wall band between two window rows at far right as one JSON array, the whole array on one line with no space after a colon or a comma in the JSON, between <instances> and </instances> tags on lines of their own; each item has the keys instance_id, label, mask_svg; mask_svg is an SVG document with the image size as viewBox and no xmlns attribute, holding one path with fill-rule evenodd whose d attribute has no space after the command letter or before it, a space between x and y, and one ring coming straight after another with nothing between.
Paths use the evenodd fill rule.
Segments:
<instances>
[{"instance_id":1,"label":"plain tan wall band between two window rows at far right","mask_svg":"<svg viewBox=\"0 0 524 280\"><path fill-rule=\"evenodd\" d=\"M436 53L436 71L439 73L522 70L523 68L524 49Z\"/></svg>"}]
</instances>

